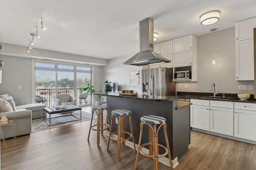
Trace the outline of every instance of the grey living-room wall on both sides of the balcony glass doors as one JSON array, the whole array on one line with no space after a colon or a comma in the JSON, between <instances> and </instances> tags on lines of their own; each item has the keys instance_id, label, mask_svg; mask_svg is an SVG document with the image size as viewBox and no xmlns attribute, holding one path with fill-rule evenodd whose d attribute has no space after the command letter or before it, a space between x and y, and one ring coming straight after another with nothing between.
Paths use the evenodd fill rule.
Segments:
<instances>
[{"instance_id":1,"label":"grey living-room wall on both sides of the balcony glass doors","mask_svg":"<svg viewBox=\"0 0 256 170\"><path fill-rule=\"evenodd\" d=\"M0 94L8 93L14 100L22 100L24 104L33 103L32 59L6 55L0 55L0 59L4 61L4 66L0 68L2 70ZM93 84L97 92L102 88L101 73L102 66L94 66ZM18 90L18 86L21 86L21 90Z\"/></svg>"}]
</instances>

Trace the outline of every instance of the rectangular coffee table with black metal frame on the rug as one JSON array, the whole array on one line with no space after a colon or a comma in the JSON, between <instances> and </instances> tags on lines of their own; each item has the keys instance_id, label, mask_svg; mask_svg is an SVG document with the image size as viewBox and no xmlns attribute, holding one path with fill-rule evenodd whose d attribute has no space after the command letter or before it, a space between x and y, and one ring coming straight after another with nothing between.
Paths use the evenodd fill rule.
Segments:
<instances>
[{"instance_id":1,"label":"rectangular coffee table with black metal frame on the rug","mask_svg":"<svg viewBox=\"0 0 256 170\"><path fill-rule=\"evenodd\" d=\"M76 110L80 110L80 118L76 117L75 115L72 115L72 111L76 111ZM51 124L51 115L56 114L56 113L70 113L70 115L78 118L77 120L82 119L82 108L74 106L72 104L67 105L66 108L64 108L64 109L56 109L56 106L44 107L44 112L48 113L50 116L50 118L44 118L44 121L49 119L49 123L48 123L48 121L46 121L46 123L48 123L48 125L50 125L50 126L52 125ZM66 115L62 115L62 116L66 116ZM58 117L61 117L61 116L58 116ZM58 123L56 123L56 124L58 124ZM56 124L53 124L53 125L56 125Z\"/></svg>"}]
</instances>

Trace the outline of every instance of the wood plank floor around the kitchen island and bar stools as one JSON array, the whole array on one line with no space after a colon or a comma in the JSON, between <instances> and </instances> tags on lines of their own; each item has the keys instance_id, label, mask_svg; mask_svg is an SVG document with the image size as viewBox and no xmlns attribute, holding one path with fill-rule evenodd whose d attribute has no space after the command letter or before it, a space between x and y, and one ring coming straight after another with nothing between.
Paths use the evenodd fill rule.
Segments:
<instances>
[{"instance_id":1,"label":"wood plank floor around the kitchen island and bar stools","mask_svg":"<svg viewBox=\"0 0 256 170\"><path fill-rule=\"evenodd\" d=\"M94 122L96 119L94 119ZM116 159L116 143L96 131L87 141L90 121L31 133L1 141L2 170L133 170L136 153L122 145L121 160ZM138 170L154 169L152 159L139 156ZM170 169L160 163L161 170ZM256 170L256 145L191 131L189 152L175 170Z\"/></svg>"}]
</instances>

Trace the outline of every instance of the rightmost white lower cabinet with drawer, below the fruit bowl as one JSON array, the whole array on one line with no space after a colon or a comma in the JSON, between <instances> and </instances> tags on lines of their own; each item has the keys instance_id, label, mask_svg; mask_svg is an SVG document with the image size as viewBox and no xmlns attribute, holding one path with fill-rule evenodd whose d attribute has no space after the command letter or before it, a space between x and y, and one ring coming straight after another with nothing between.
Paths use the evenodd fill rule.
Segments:
<instances>
[{"instance_id":1,"label":"rightmost white lower cabinet with drawer, below the fruit bowl","mask_svg":"<svg viewBox=\"0 0 256 170\"><path fill-rule=\"evenodd\" d=\"M234 137L256 141L256 104L234 103Z\"/></svg>"}]
</instances>

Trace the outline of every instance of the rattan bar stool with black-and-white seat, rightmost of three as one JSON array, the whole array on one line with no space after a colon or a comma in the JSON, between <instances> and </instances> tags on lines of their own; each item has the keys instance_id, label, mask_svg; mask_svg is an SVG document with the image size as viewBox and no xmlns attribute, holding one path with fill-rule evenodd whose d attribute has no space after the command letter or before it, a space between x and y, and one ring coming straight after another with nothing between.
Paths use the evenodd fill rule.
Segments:
<instances>
[{"instance_id":1,"label":"rattan bar stool with black-and-white seat, rightmost of three","mask_svg":"<svg viewBox=\"0 0 256 170\"><path fill-rule=\"evenodd\" d=\"M147 115L147 116L142 116L140 118L140 121L141 121L140 122L140 138L139 138L139 142L138 142L138 150L137 150L134 169L137 169L139 153L141 153L143 156L154 159L154 170L159 170L159 158L164 157L168 154L168 157L170 160L170 166L173 169L172 157L171 157L168 137L167 137L167 133L166 133L166 127L167 127L166 119L164 117L160 117L160 116ZM149 143L144 143L143 145L141 145L143 125L148 125L148 127L149 127ZM159 125L158 129L156 129L156 125ZM165 137L165 141L166 141L166 146L158 143L158 131L159 131L160 127L163 127L163 129L164 129L164 137ZM149 154L146 154L146 153L142 152L142 150L141 150L143 147L145 147L147 145L149 145ZM166 152L164 154L159 154L158 147L164 148L166 150Z\"/></svg>"}]
</instances>

